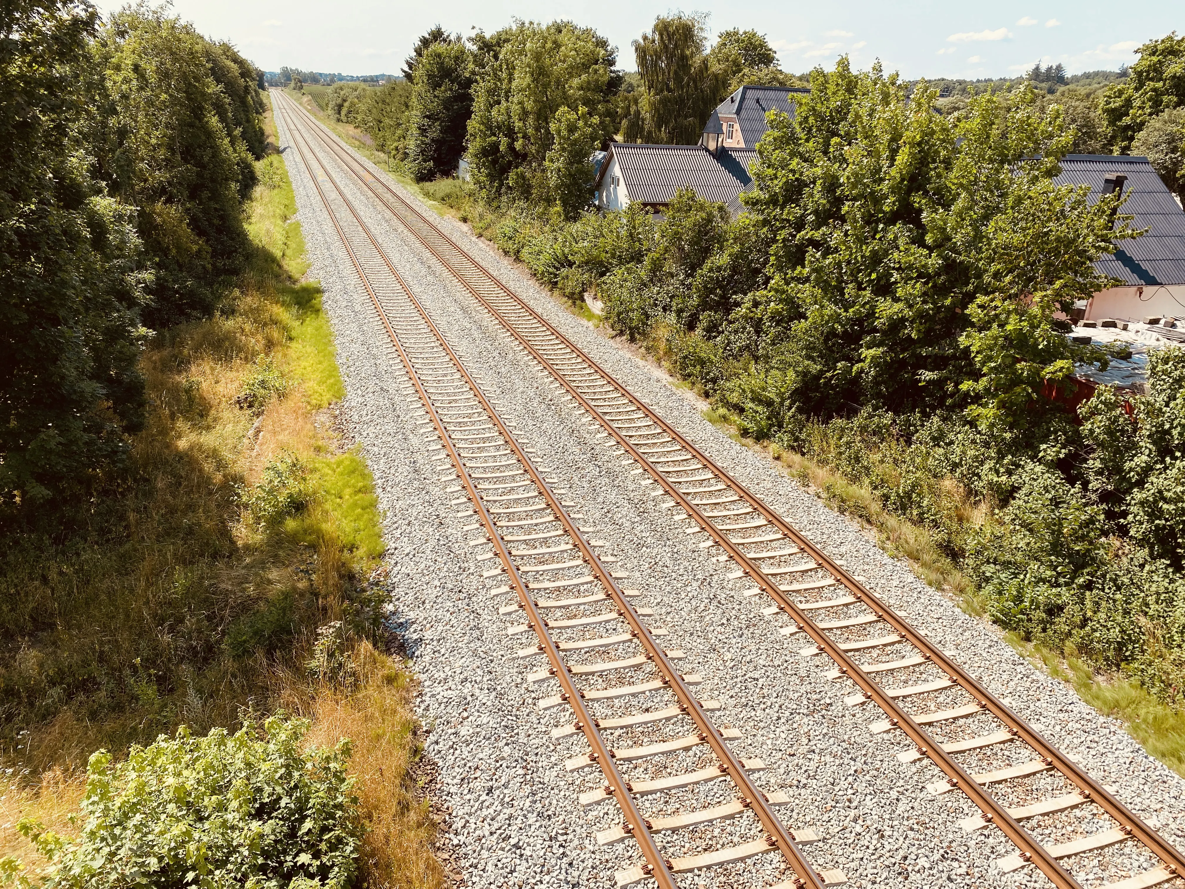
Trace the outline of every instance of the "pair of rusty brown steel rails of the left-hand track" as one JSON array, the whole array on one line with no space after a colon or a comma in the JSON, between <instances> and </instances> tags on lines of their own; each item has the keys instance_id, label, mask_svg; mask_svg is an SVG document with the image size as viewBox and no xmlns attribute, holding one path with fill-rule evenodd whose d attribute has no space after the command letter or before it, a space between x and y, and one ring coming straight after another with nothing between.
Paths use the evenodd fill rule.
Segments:
<instances>
[{"instance_id":1,"label":"pair of rusty brown steel rails of the left-hand track","mask_svg":"<svg viewBox=\"0 0 1185 889\"><path fill-rule=\"evenodd\" d=\"M284 122L286 124L289 123L289 117L287 116L287 114L284 117ZM294 133L296 132L295 127L290 128L293 129ZM301 137L303 139L303 135ZM296 145L295 140L294 145ZM296 145L296 148L297 152L301 154L301 160L305 162L306 167L309 170L309 173L312 174L312 167L308 164L305 152L300 148L299 145ZM807 862L807 859L802 856L802 852L798 849L798 845L794 843L794 839L790 836L789 831L782 824L781 819L779 819L777 816L774 813L773 807L768 802L768 798L764 794L764 792L762 792L752 782L752 779L749 778L749 774L745 770L744 765L741 762L739 757L737 757L732 753L731 748L728 746L724 737L720 735L719 730L707 717L706 712L700 706L698 698L696 698L691 693L690 689L687 687L686 683L683 679L681 673L679 673L675 666L671 663L664 648L660 645L658 645L658 642L654 640L654 637L652 635L649 629L642 623L641 616L638 614L633 603L629 602L629 600L626 597L620 584L617 584L616 580L611 576L611 573L604 567L604 563L601 561L600 556L596 554L592 546L581 533L579 529L572 522L571 517L568 514L564 506L561 504L558 498L551 491L551 487L547 485L543 475L534 467L533 461L531 461L527 458L526 453L521 449L518 441L511 434L510 429L504 424L501 417L494 410L493 405L489 404L481 388L476 384L476 382L469 375L468 370L456 357L451 346L444 339L443 333L431 320L428 312L424 309L423 305L411 292L411 288L408 287L402 275L395 268L395 264L386 256L386 252L371 235L366 224L361 220L360 217L358 217L357 211L353 210L353 206L350 204L348 199L341 192L337 181L333 179L333 175L328 172L328 170L324 167L324 165L321 165L321 170L325 173L326 178L333 184L334 188L338 191L338 194L341 198L342 203L354 215L356 222L358 223L359 228L363 230L366 238L371 242L374 250L379 254L383 262L387 266L391 275L398 281L401 288L404 290L408 300L412 303L416 312L419 314L425 327L436 338L440 348L448 356L449 360L453 363L456 371L462 375L462 377L466 380L466 384L476 396L485 412L495 423L499 434L501 435L506 444L513 449L515 459L526 469L527 474L531 478L531 482L534 485L534 487L542 492L543 498L547 501L551 511L558 517L558 522L559 524L563 525L569 538L574 543L576 543L584 561L590 564L597 581L606 590L610 593L614 603L617 606L619 615L624 618L624 620L630 627L632 635L646 650L647 659L652 660L655 664L655 667L659 670L659 672L662 674L662 678L665 679L665 684L668 687L671 687L671 690L678 698L680 709L692 719L692 722L696 723L696 727L698 728L703 740L710 746L712 752L722 762L720 770L726 773L728 776L732 780L732 782L737 786L737 789L741 792L742 804L747 808L752 810L754 814L760 820L762 827L766 830L767 844L770 845L771 848L776 848L782 853L783 858L787 861L790 868L794 870L795 872L794 884L796 887L812 885L821 889L821 887L824 885L821 877L811 865L811 863ZM334 226L338 230L338 235L341 238L342 244L346 247L346 250L350 252L351 260L354 263L354 268L358 271L359 277L363 280L364 286L366 287L367 294L371 298L371 302L374 305L376 311L378 312L380 319L383 320L383 325L387 331L387 335L391 338L391 340L398 348L401 358L408 366L409 372L414 372L412 371L414 365L411 364L411 359L404 352L403 345L399 343L398 337L396 335L393 328L391 327L385 311L383 309L377 295L374 294L373 288L370 286L370 282L366 279L366 275L363 271L361 264L358 262L353 252L353 249L350 247L348 241L345 234L342 232L340 224L338 223L337 217L333 213L329 203L324 194L324 191L321 190L320 184L316 181L316 177L310 175L310 178L316 185L318 193L321 196L321 199L325 203L327 212L329 212L331 218L333 218L334 220ZM628 806L622 804L622 810L626 816L626 825L624 825L626 830L630 836L634 836L635 839L638 839L639 836L645 838L645 842L642 839L639 839L639 846L642 848L643 857L648 862L649 865L648 874L651 876L655 876L660 885L665 885L666 883L662 878L660 878L660 874L666 874L670 877L671 862L661 856L661 853L658 850L658 846L654 844L653 837L647 829L647 821L645 818L642 818L641 813L638 811L636 805L633 801L633 798L630 797L629 784L622 779L622 775L616 768L616 763L613 761L614 757L610 748L604 743L600 731L596 729L597 721L594 717L591 717L591 715L585 709L584 703L582 701L583 695L576 689L571 674L568 672L566 666L563 664L563 659L559 655L558 648L551 640L550 633L547 633L546 631L547 623L539 614L534 600L529 594L527 587L523 581L521 575L518 571L518 568L513 564L513 561L510 557L510 552L506 550L505 543L498 535L493 519L489 516L488 511L486 510L483 501L480 499L476 487L474 486L472 479L466 472L461 458L456 454L456 450L448 437L448 433L443 426L443 422L436 414L435 408L431 407L427 391L423 389L418 375L416 375L415 382L416 382L416 388L421 395L421 399L424 401L425 407L428 407L428 410L430 411L433 417L433 422L436 426L438 434L441 435L441 440L448 448L449 456L457 467L457 474L465 475L465 484L468 490L468 495L470 500L475 504L475 506L480 509L480 514L482 517L482 523L486 525L487 533L491 541L494 543L494 546L499 554L499 558L507 569L508 576L513 581L514 588L518 593L524 610L526 610L530 618L529 626L540 637L540 639L545 640L545 646L546 646L545 653L547 654L547 659L551 661L552 669L556 671L556 677L564 686L564 692L565 695L568 695L566 703L572 705L572 709L576 714L576 727L584 733L587 738L589 738L590 747L592 748L594 752L594 759L598 765L602 766L602 770L606 774L606 778L608 780L606 791L609 793L609 795L617 799L619 804L622 804L622 799L628 800ZM619 787L622 788L624 793L617 793ZM649 853L651 851L653 852L653 855Z\"/></svg>"}]
</instances>

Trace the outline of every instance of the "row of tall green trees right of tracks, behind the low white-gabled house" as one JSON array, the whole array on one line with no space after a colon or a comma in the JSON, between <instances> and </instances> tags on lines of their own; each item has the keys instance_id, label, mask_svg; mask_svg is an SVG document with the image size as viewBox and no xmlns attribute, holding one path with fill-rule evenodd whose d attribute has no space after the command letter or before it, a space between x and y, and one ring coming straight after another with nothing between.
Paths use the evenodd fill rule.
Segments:
<instances>
[{"instance_id":1,"label":"row of tall green trees right of tracks, behind the low white-gabled house","mask_svg":"<svg viewBox=\"0 0 1185 889\"><path fill-rule=\"evenodd\" d=\"M419 37L403 81L334 84L326 110L358 126L419 181L455 174L467 158L487 199L558 207L574 218L591 196L589 156L610 140L694 143L707 115L744 83L795 85L752 30L659 17L634 41L636 73L594 28L515 23L462 38Z\"/></svg>"}]
</instances>

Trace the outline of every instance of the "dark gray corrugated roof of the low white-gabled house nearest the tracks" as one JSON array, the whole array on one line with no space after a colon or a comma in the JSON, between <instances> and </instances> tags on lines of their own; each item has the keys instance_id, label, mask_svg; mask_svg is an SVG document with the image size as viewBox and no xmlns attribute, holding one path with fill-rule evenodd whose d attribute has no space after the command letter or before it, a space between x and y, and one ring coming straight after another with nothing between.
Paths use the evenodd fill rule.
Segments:
<instances>
[{"instance_id":1,"label":"dark gray corrugated roof of the low white-gabled house nearest the tracks","mask_svg":"<svg viewBox=\"0 0 1185 889\"><path fill-rule=\"evenodd\" d=\"M609 146L617 159L626 193L640 204L670 204L679 188L691 188L704 200L729 204L749 181L742 164L728 158L722 162L702 145L632 145ZM726 154L722 149L722 155ZM609 168L601 165L601 175ZM744 181L738 178L744 175ZM600 187L601 177L597 177Z\"/></svg>"}]
</instances>

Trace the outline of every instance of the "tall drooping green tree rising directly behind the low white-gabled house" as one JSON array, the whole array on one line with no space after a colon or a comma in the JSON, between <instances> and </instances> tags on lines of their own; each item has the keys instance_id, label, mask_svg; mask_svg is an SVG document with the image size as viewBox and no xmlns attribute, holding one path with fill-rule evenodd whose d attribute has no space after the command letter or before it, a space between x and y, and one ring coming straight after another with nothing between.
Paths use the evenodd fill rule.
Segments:
<instances>
[{"instance_id":1,"label":"tall drooping green tree rising directly behind the low white-gabled house","mask_svg":"<svg viewBox=\"0 0 1185 889\"><path fill-rule=\"evenodd\" d=\"M694 145L712 109L726 95L729 71L705 52L703 18L659 17L634 40L642 89L632 94L622 128L627 142Z\"/></svg>"}]
</instances>

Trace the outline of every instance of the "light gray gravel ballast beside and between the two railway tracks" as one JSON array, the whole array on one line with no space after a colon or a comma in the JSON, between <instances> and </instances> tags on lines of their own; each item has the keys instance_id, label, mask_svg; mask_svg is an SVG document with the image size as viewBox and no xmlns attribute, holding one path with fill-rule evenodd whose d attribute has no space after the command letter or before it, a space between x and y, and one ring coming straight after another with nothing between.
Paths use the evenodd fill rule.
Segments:
<instances>
[{"instance_id":1,"label":"light gray gravel ballast beside and between the two railway tracks","mask_svg":"<svg viewBox=\"0 0 1185 889\"><path fill-rule=\"evenodd\" d=\"M619 824L620 812L607 802L583 810L576 801L581 792L601 784L600 775L563 768L566 757L584 752L583 741L557 742L549 735L570 721L570 711L540 712L536 706L557 686L529 687L526 673L538 661L512 657L524 641L507 637L506 629L520 619L499 616L498 606L506 600L488 595L492 583L481 577L482 565L466 545L473 533L461 530L466 522L449 505L454 494L446 494L448 485L440 481L448 473L429 460L424 427L415 424L422 418L418 398L290 148L283 121L277 126L312 263L308 276L320 279L334 327L347 392L341 414L374 474L389 546L391 620L421 682L427 755L438 767L435 792L450 812L442 830L451 865L473 887L613 885L614 871L640 863L636 845L596 845L594 833ZM549 477L570 491L566 499L607 542L603 551L621 559L615 569L629 573L629 586L642 594L638 603L653 608L654 625L670 631L667 645L686 652L680 670L703 674L698 696L719 701L718 724L742 733L734 749L768 766L755 780L790 797L779 810L782 820L822 837L803 848L814 866L844 870L857 887L1045 884L1032 868L1004 875L992 864L1013 851L1003 834L994 829L965 834L957 821L975 811L969 800L961 793L929 794L924 786L937 770L898 762L895 754L909 747L903 736L869 731L880 711L847 706L844 697L851 684L824 676L833 664L800 657L801 637L780 635L776 619L761 615L764 602L743 597L747 584L726 580L728 568L698 548L703 537L685 535L686 523L674 523L668 512L655 509L653 488L640 486L630 475L633 465L623 465L613 453L616 448L596 437L600 427L587 424L587 415L512 348L507 335L418 242L353 186L340 165L321 156L466 366L498 392L502 416L537 449L539 465L553 469ZM374 167L372 172L385 175ZM425 215L435 219L431 211ZM451 219L437 224L712 460L920 631L955 652L955 660L1059 749L1080 757L1096 780L1114 787L1170 842L1185 846L1185 781L1147 756L1117 722L1036 670L994 627L918 581L905 563L880 551L853 522L828 510L768 459L713 428L667 377L571 315L491 245ZM647 709L647 702L633 698L623 706L622 712L636 711ZM694 767L688 759L687 768ZM1043 780L1052 779L1031 779L1030 789L1042 787ZM713 794L724 789L717 781L685 795L668 794L656 805L664 812L700 807L723 801L726 795ZM1082 824L1084 832L1104 826L1083 819L1085 811L1077 810L1072 823ZM1043 836L1055 823L1030 826ZM720 821L687 832L687 838L683 832L659 834L660 845L672 856L698 852L744 842L751 838L751 826L744 819ZM1064 838L1064 832L1057 834ZM1132 846L1093 853L1100 868L1107 868L1097 880L1151 866L1146 857L1125 857ZM1089 857L1075 861L1075 869L1090 870L1084 863ZM770 884L777 880L775 859L760 856L685 875L680 885Z\"/></svg>"}]
</instances>

